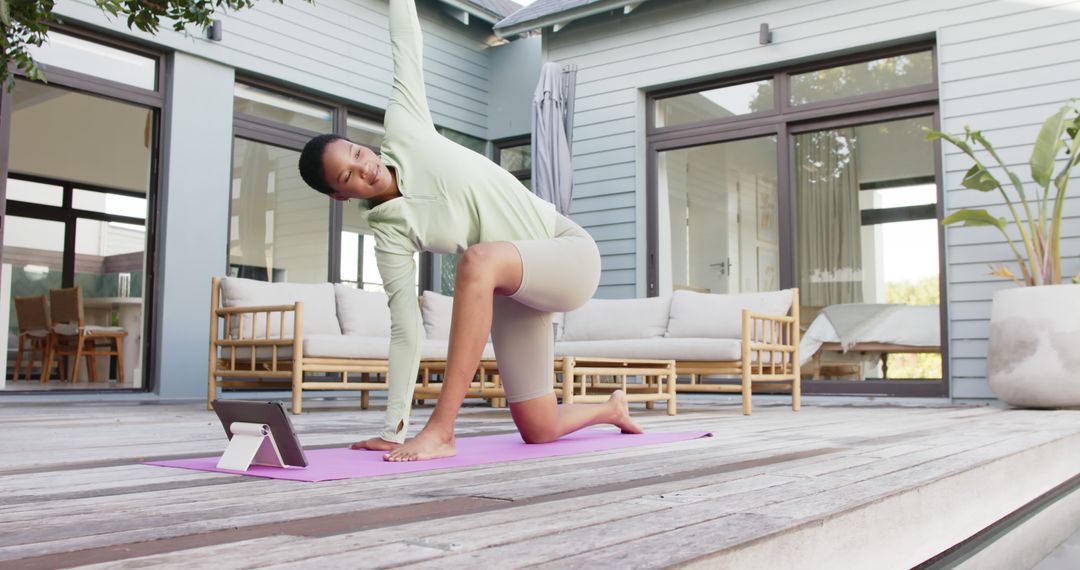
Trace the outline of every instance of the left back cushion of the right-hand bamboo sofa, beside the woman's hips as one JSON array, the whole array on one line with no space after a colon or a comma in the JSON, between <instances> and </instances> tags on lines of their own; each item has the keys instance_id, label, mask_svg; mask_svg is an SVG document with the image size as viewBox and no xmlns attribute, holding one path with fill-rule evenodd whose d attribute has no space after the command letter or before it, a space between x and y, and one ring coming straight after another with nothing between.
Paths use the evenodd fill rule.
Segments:
<instances>
[{"instance_id":1,"label":"left back cushion of the right-hand bamboo sofa, beside the woman's hips","mask_svg":"<svg viewBox=\"0 0 1080 570\"><path fill-rule=\"evenodd\" d=\"M610 340L664 336L671 297L592 299L566 313L559 340Z\"/></svg>"}]
</instances>

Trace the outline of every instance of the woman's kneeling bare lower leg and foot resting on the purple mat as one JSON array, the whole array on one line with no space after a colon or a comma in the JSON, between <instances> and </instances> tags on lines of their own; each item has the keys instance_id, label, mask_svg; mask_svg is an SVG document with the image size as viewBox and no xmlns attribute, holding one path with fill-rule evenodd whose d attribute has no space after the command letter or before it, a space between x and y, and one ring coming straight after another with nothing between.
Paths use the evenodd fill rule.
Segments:
<instances>
[{"instance_id":1,"label":"woman's kneeling bare lower leg and foot resting on the purple mat","mask_svg":"<svg viewBox=\"0 0 1080 570\"><path fill-rule=\"evenodd\" d=\"M582 428L599 423L616 425L622 433L642 433L643 430L630 419L626 394L617 390L604 404L555 403L555 394L510 405L522 439L527 444L546 444Z\"/></svg>"}]
</instances>

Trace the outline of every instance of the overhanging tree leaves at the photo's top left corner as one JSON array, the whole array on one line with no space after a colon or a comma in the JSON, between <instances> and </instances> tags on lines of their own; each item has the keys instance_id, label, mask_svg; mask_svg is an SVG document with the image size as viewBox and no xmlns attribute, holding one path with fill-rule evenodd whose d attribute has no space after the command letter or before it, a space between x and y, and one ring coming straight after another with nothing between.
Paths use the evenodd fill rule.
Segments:
<instances>
[{"instance_id":1,"label":"overhanging tree leaves at the photo's top left corner","mask_svg":"<svg viewBox=\"0 0 1080 570\"><path fill-rule=\"evenodd\" d=\"M256 0L94 0L103 12L125 17L127 27L147 33L157 33L161 21L171 21L174 30L183 31L188 26L205 28L218 12L238 11L255 5ZM284 0L272 0L283 3ZM313 0L306 0L313 2ZM19 71L35 81L44 81L41 68L30 56L28 46L40 46L49 35L49 27L59 24L53 13L53 0L0 0L0 21L3 23L3 39L0 46L0 82L8 89L14 86L14 78L9 64L14 63Z\"/></svg>"}]
</instances>

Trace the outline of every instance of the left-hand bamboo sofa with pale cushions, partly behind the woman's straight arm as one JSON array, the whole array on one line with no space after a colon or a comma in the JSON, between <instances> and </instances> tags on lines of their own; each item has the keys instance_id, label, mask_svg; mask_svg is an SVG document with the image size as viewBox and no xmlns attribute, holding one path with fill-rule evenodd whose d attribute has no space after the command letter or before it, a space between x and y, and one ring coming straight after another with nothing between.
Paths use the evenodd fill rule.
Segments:
<instances>
[{"instance_id":1,"label":"left-hand bamboo sofa with pale cushions, partly behind the woman's straight arm","mask_svg":"<svg viewBox=\"0 0 1080 570\"><path fill-rule=\"evenodd\" d=\"M440 300L421 302L420 354L429 366L445 362L449 341L453 304ZM384 293L341 284L214 277L207 407L221 389L255 388L291 390L294 413L300 413L302 394L310 390L359 391L366 409L368 394L387 389L388 301ZM490 342L483 356L495 357ZM437 388L417 386L416 394L435 395ZM474 383L468 395L485 394Z\"/></svg>"}]
</instances>

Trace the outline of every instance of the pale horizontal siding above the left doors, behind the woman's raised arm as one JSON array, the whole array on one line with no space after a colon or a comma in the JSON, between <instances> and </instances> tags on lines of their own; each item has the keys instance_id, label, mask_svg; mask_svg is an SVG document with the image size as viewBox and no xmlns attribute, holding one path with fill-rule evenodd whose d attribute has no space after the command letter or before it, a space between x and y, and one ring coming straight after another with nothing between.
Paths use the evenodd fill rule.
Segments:
<instances>
[{"instance_id":1,"label":"pale horizontal siding above the left doors, behind the woman's raised arm","mask_svg":"<svg viewBox=\"0 0 1080 570\"><path fill-rule=\"evenodd\" d=\"M419 8L424 79L435 123L486 139L490 49L485 40L490 29L465 27L428 2ZM386 1L257 2L252 9L221 15L220 42L202 38L199 30L163 28L156 37L131 31L89 0L63 1L56 12L69 22L198 55L233 67L238 76L267 78L321 97L380 110L390 95Z\"/></svg>"}]
</instances>

